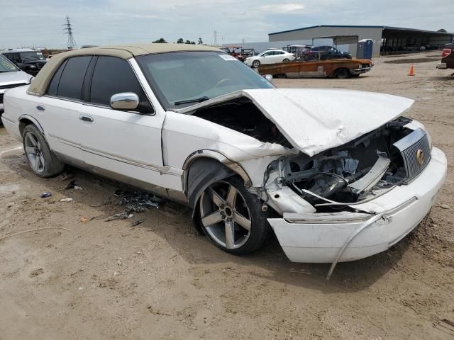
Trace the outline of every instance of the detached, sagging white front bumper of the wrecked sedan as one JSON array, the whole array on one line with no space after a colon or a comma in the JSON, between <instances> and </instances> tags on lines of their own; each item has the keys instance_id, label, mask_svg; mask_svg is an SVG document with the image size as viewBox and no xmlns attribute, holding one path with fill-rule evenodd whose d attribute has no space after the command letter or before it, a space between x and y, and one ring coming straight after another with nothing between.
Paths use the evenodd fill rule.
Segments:
<instances>
[{"instance_id":1,"label":"detached, sagging white front bumper of the wrecked sedan","mask_svg":"<svg viewBox=\"0 0 454 340\"><path fill-rule=\"evenodd\" d=\"M433 147L426 169L358 209L370 212L287 214L270 218L279 244L293 262L337 263L389 249L419 225L431 209L447 171L445 154Z\"/></svg>"}]
</instances>

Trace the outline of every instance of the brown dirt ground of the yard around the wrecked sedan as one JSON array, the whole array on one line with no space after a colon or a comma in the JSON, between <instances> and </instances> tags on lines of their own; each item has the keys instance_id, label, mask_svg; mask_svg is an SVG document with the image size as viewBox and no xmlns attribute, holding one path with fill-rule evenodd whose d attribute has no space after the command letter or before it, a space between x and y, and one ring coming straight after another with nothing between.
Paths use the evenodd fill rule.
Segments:
<instances>
[{"instance_id":1,"label":"brown dirt ground of the yard around the wrecked sedan","mask_svg":"<svg viewBox=\"0 0 454 340\"><path fill-rule=\"evenodd\" d=\"M118 183L74 171L84 190L65 191L68 181L34 176L13 152L0 159L0 339L453 340L454 77L436 61L408 77L410 64L384 63L392 59L375 59L359 79L275 84L416 100L407 115L427 126L449 174L409 237L341 263L326 281L328 264L291 263L274 238L252 256L218 250L174 203L104 222L121 212ZM18 145L0 128L0 152ZM45 191L52 197L40 198ZM131 226L137 220L145 222Z\"/></svg>"}]
</instances>

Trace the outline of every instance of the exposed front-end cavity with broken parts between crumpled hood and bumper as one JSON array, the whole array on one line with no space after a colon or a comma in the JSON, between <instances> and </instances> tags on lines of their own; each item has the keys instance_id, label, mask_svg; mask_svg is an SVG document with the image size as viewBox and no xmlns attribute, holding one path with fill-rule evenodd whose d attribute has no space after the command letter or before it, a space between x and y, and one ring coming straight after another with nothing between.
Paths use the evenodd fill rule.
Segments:
<instances>
[{"instance_id":1,"label":"exposed front-end cavity with broken parts between crumpled hood and bumper","mask_svg":"<svg viewBox=\"0 0 454 340\"><path fill-rule=\"evenodd\" d=\"M409 118L398 118L314 157L281 157L268 166L267 173L277 171L282 185L292 188L318 211L333 211L375 198L406 180L402 152L394 144L414 132L404 127L410 122Z\"/></svg>"}]
</instances>

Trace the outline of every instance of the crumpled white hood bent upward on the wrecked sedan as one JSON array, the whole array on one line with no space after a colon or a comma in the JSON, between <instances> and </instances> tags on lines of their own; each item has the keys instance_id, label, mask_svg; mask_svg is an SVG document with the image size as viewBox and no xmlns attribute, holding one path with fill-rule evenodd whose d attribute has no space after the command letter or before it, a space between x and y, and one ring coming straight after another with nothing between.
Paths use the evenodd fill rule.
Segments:
<instances>
[{"instance_id":1,"label":"crumpled white hood bent upward on the wrecked sedan","mask_svg":"<svg viewBox=\"0 0 454 340\"><path fill-rule=\"evenodd\" d=\"M402 115L409 98L340 89L252 89L236 91L179 110L191 113L233 98L250 98L289 142L314 156L344 145Z\"/></svg>"}]
</instances>

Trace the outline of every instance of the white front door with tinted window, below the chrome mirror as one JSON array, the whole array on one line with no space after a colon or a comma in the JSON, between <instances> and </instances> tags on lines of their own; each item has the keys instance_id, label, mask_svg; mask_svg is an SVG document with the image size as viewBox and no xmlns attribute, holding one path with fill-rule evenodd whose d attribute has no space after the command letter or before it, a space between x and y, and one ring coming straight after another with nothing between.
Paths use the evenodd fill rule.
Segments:
<instances>
[{"instance_id":1,"label":"white front door with tinted window, below the chrome mirror","mask_svg":"<svg viewBox=\"0 0 454 340\"><path fill-rule=\"evenodd\" d=\"M96 57L77 127L84 162L111 177L167 195L162 186L161 129L165 113L155 112L133 66L117 57ZM86 79L86 80L87 80ZM137 111L110 107L111 96L133 92Z\"/></svg>"}]
</instances>

